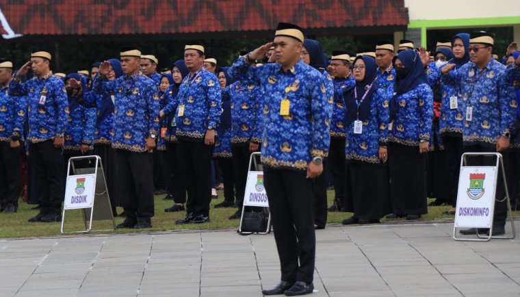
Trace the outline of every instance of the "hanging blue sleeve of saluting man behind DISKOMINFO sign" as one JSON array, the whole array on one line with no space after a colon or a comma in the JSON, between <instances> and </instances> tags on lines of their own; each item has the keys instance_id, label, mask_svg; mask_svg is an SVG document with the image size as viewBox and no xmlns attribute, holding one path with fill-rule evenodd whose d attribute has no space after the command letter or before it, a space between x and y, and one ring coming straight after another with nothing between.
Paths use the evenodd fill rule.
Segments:
<instances>
[{"instance_id":1,"label":"hanging blue sleeve of saluting man behind DISKOMINFO sign","mask_svg":"<svg viewBox=\"0 0 520 297\"><path fill-rule=\"evenodd\" d=\"M503 73L507 75L506 72ZM513 127L517 115L517 102L515 88L508 84L506 77L498 79L498 104L500 105L500 135L505 132L510 132L510 127Z\"/></svg>"}]
</instances>

